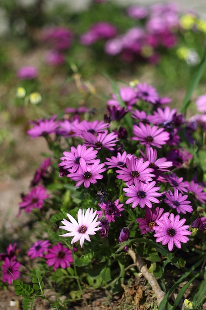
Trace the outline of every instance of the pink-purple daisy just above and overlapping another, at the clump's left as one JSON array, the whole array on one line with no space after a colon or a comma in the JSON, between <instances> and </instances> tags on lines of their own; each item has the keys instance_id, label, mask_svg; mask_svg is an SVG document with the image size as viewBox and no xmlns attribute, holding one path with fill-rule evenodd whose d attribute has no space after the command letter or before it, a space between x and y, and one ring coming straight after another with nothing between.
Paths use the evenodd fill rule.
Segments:
<instances>
[{"instance_id":1,"label":"pink-purple daisy just above and overlapping another, at the clump's left","mask_svg":"<svg viewBox=\"0 0 206 310\"><path fill-rule=\"evenodd\" d=\"M63 166L65 169L72 168L76 172L80 167L80 158L83 158L87 164L93 163L98 151L93 148L86 149L85 145L79 144L77 148L71 147L70 152L63 152L63 157L60 157L62 162L58 164L59 167Z\"/></svg>"}]
</instances>

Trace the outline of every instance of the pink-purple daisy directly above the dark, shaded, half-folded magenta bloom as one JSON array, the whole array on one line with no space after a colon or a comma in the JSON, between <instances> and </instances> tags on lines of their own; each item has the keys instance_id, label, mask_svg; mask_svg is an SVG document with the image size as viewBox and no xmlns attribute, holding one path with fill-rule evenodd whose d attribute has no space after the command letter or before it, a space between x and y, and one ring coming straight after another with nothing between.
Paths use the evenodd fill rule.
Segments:
<instances>
[{"instance_id":1,"label":"pink-purple daisy directly above the dark, shaded, half-folded magenta bloom","mask_svg":"<svg viewBox=\"0 0 206 310\"><path fill-rule=\"evenodd\" d=\"M134 179L134 185L129 185L126 183L127 187L124 187L123 190L126 192L124 194L127 197L130 197L127 199L126 204L131 204L132 207L137 207L139 205L141 208L145 207L145 205L149 208L152 207L152 203L160 203L159 200L156 197L160 197L161 193L158 193L157 191L160 190L159 186L155 187L156 182L146 182L142 183L139 182L137 179Z\"/></svg>"}]
</instances>

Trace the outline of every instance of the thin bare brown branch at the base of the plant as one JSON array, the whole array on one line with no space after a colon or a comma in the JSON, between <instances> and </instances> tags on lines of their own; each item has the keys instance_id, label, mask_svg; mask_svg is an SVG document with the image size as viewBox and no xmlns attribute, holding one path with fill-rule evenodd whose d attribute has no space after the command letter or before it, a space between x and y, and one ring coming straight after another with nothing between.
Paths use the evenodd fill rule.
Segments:
<instances>
[{"instance_id":1,"label":"thin bare brown branch at the base of the plant","mask_svg":"<svg viewBox=\"0 0 206 310\"><path fill-rule=\"evenodd\" d=\"M158 284L158 281L154 277L153 273L148 271L148 268L147 268L145 261L138 254L136 254L132 249L128 249L127 253L133 259L133 261L134 261L135 265L137 266L137 268L139 269L139 271L142 272L143 276L150 283L153 291L155 292L155 294L157 296L157 303L159 306L161 301L165 297L165 292L163 292L161 290L160 285Z\"/></svg>"}]
</instances>

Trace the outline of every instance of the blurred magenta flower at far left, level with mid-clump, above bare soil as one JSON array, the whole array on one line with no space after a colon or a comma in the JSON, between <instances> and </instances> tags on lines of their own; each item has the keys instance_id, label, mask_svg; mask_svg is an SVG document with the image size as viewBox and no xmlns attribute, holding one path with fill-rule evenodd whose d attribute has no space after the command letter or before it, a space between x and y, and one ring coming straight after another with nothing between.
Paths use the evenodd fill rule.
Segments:
<instances>
[{"instance_id":1,"label":"blurred magenta flower at far left, level with mid-clump, above bare soil","mask_svg":"<svg viewBox=\"0 0 206 310\"><path fill-rule=\"evenodd\" d=\"M28 195L22 196L22 202L19 203L20 210L24 209L26 213L31 213L34 208L41 209L44 204L44 200L48 198L46 189L39 185L34 187Z\"/></svg>"}]
</instances>

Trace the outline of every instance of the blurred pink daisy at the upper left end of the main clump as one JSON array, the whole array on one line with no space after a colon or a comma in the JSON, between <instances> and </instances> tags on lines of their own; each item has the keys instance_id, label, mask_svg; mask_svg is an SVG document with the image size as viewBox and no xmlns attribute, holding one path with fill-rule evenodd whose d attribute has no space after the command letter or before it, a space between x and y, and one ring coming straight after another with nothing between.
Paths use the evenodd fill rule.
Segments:
<instances>
[{"instance_id":1,"label":"blurred pink daisy at the upper left end of the main clump","mask_svg":"<svg viewBox=\"0 0 206 310\"><path fill-rule=\"evenodd\" d=\"M36 125L27 131L31 138L47 136L56 133L59 127L59 122L55 120L55 116L50 119L40 119Z\"/></svg>"}]
</instances>

